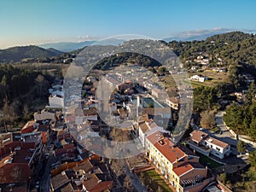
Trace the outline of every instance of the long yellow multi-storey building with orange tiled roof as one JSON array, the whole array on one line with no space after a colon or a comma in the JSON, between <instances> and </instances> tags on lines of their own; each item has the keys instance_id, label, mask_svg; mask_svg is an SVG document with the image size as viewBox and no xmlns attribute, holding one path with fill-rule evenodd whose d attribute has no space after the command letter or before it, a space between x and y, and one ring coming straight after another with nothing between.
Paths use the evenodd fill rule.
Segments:
<instances>
[{"instance_id":1,"label":"long yellow multi-storey building with orange tiled roof","mask_svg":"<svg viewBox=\"0 0 256 192\"><path fill-rule=\"evenodd\" d=\"M182 145L172 143L160 131L146 137L146 152L149 160L178 192L198 192L213 181L197 155Z\"/></svg>"}]
</instances>

